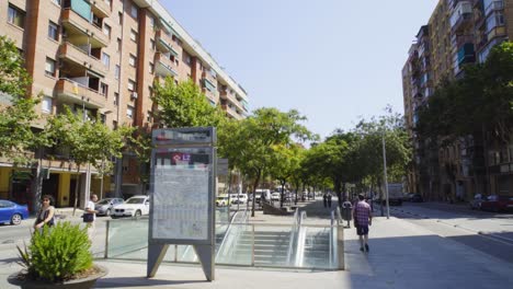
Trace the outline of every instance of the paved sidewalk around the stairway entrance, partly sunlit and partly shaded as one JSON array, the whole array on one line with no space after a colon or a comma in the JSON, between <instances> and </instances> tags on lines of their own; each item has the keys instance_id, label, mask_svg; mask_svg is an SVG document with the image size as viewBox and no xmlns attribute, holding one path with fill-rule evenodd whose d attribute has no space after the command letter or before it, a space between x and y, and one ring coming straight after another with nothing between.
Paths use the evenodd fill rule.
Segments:
<instances>
[{"instance_id":1,"label":"paved sidewalk around the stairway entrance, partly sunlit and partly shaded","mask_svg":"<svg viewBox=\"0 0 513 289\"><path fill-rule=\"evenodd\" d=\"M321 201L305 206L311 222L329 222ZM252 221L271 222L275 216L258 212ZM283 217L278 217L283 218ZM286 217L288 218L288 217ZM509 288L513 265L408 221L374 218L371 252L360 252L354 228L344 230L346 270L307 271L216 266L208 282L200 265L160 266L146 278L146 263L95 261L110 273L96 288ZM2 274L3 275L3 274ZM4 288L4 280L0 288ZM9 285L8 285L9 286ZM13 288L13 287L5 287Z\"/></svg>"}]
</instances>

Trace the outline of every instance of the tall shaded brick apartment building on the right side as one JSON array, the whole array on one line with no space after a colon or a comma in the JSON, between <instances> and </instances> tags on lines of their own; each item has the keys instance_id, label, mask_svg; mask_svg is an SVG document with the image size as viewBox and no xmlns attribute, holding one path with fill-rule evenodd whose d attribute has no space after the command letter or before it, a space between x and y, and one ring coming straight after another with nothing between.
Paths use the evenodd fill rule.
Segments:
<instances>
[{"instance_id":1,"label":"tall shaded brick apartment building on the right side","mask_svg":"<svg viewBox=\"0 0 513 289\"><path fill-rule=\"evenodd\" d=\"M420 143L413 130L417 109L442 81L464 77L465 65L486 61L491 48L513 39L512 33L513 0L440 0L419 31L402 69L404 117L415 148L412 192L435 200L465 200L486 192L513 195L509 146L491 141L485 152L483 142L469 136L433 150L433 143ZM476 159L488 161L479 166Z\"/></svg>"}]
</instances>

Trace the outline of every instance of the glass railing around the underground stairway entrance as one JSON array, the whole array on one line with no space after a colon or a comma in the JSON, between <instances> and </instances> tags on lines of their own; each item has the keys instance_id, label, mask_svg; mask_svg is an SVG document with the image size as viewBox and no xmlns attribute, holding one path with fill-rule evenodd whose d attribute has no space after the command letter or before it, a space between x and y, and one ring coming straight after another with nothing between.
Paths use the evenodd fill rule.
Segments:
<instances>
[{"instance_id":1,"label":"glass railing around the underground stairway entrance","mask_svg":"<svg viewBox=\"0 0 513 289\"><path fill-rule=\"evenodd\" d=\"M226 216L223 211L217 213L218 220ZM293 224L246 223L241 216L243 215L233 217L239 222L216 222L216 264L275 268L343 268L343 254L341 259L338 253L338 245L343 244L342 224L305 224L305 213L299 213ZM106 258L147 259L147 218L107 222ZM171 244L163 262L198 261L193 246Z\"/></svg>"}]
</instances>

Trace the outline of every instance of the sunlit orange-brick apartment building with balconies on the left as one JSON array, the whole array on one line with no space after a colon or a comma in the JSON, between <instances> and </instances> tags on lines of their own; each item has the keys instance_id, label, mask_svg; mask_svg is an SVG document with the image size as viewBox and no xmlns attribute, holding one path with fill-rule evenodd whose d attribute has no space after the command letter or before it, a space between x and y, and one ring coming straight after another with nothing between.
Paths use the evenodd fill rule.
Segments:
<instances>
[{"instance_id":1,"label":"sunlit orange-brick apartment building with balconies on the left","mask_svg":"<svg viewBox=\"0 0 513 289\"><path fill-rule=\"evenodd\" d=\"M37 113L45 116L65 106L86 112L109 127L132 125L151 128L153 81L171 77L178 83L191 79L212 105L241 119L248 114L248 95L216 60L156 0L5 0L0 1L0 35L13 39L33 78L32 94L42 93ZM75 199L81 178L86 192L137 194L144 190L138 162L125 155L117 177L95 177L96 170L77 167L66 151L47 152L43 193L57 206ZM52 155L52 158L49 158ZM116 180L117 178L117 180ZM30 176L0 160L0 198L30 203ZM102 186L103 184L103 186Z\"/></svg>"}]
</instances>

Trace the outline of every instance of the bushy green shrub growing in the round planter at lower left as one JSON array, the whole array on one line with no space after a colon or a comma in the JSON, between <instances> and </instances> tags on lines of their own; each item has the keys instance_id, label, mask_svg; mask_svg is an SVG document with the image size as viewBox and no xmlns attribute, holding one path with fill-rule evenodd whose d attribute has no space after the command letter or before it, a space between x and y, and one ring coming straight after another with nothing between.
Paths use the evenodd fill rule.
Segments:
<instances>
[{"instance_id":1,"label":"bushy green shrub growing in the round planter at lower left","mask_svg":"<svg viewBox=\"0 0 513 289\"><path fill-rule=\"evenodd\" d=\"M36 230L29 246L18 247L25 279L61 282L93 275L91 241L80 224L59 222Z\"/></svg>"}]
</instances>

